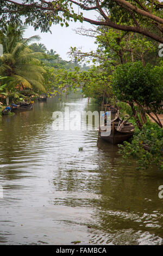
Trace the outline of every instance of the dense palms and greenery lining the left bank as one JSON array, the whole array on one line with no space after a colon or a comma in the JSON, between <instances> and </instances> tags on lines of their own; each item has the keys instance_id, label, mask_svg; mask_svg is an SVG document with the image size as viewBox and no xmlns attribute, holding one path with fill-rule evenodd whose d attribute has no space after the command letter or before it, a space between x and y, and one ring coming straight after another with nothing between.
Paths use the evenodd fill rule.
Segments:
<instances>
[{"instance_id":1,"label":"dense palms and greenery lining the left bank","mask_svg":"<svg viewBox=\"0 0 163 256\"><path fill-rule=\"evenodd\" d=\"M1 101L9 105L55 88L57 69L74 69L77 62L62 60L54 50L48 51L39 36L23 39L26 27L4 26L0 31L3 55L0 57Z\"/></svg>"}]
</instances>

